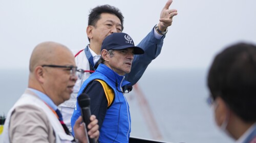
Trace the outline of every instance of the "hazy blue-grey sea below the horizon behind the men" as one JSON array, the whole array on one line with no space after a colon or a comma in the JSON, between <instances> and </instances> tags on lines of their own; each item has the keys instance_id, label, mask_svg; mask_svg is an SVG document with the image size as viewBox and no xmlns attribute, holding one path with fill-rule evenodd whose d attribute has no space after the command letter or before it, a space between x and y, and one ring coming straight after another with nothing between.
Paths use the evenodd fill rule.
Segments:
<instances>
[{"instance_id":1,"label":"hazy blue-grey sea below the horizon behind the men","mask_svg":"<svg viewBox=\"0 0 256 143\"><path fill-rule=\"evenodd\" d=\"M206 69L146 70L138 88L134 86L125 95L132 117L131 136L177 143L234 142L216 127L213 110L206 103L206 72ZM1 70L0 115L6 115L23 94L28 74L28 70Z\"/></svg>"}]
</instances>

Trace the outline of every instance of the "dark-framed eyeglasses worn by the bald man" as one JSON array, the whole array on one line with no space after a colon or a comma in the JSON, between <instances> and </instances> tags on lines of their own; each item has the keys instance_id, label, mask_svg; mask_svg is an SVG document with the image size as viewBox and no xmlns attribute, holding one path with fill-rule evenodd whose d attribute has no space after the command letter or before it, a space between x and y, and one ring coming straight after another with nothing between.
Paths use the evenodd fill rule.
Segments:
<instances>
[{"instance_id":1,"label":"dark-framed eyeglasses worn by the bald man","mask_svg":"<svg viewBox=\"0 0 256 143\"><path fill-rule=\"evenodd\" d=\"M41 65L42 67L51 67L51 68L67 68L65 70L70 71L70 75L77 76L79 79L83 76L83 69L77 69L75 66L59 66L59 65Z\"/></svg>"}]
</instances>

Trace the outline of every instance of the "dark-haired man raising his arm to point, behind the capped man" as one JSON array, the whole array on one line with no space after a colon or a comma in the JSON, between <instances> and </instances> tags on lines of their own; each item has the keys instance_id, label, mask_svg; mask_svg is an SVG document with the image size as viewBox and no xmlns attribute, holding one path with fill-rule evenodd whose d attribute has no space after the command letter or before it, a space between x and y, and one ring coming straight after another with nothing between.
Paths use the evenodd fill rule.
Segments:
<instances>
[{"instance_id":1,"label":"dark-haired man raising his arm to point, behind the capped man","mask_svg":"<svg viewBox=\"0 0 256 143\"><path fill-rule=\"evenodd\" d=\"M159 14L160 19L157 24L152 26L152 30L138 43L138 46L141 47L146 54L135 55L131 72L125 75L125 79L130 81L132 85L138 82L147 66L152 60L157 58L163 48L167 28L172 25L173 17L178 14L176 9L169 9L172 2L173 0L166 2ZM150 9L156 10L155 8ZM123 31L123 18L120 10L110 5L101 5L90 10L88 26L86 28L90 43L83 49L73 51L76 66L79 69L84 69L84 74L81 79L76 81L71 98L59 106L63 115L63 121L67 124L70 131L70 118L76 105L77 93L81 88L81 84L97 69L97 63L101 54L101 45L105 37L112 33L120 33Z\"/></svg>"}]
</instances>

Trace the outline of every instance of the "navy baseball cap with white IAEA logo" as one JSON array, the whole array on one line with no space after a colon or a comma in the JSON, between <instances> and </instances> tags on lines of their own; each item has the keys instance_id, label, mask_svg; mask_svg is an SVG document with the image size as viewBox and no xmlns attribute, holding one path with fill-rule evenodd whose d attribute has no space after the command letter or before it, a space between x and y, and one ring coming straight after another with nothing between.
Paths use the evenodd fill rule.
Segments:
<instances>
[{"instance_id":1,"label":"navy baseball cap with white IAEA logo","mask_svg":"<svg viewBox=\"0 0 256 143\"><path fill-rule=\"evenodd\" d=\"M126 33L112 33L103 40L101 45L101 51L103 49L120 50L126 48L133 48L134 54L144 53L142 48L134 46L133 39Z\"/></svg>"}]
</instances>

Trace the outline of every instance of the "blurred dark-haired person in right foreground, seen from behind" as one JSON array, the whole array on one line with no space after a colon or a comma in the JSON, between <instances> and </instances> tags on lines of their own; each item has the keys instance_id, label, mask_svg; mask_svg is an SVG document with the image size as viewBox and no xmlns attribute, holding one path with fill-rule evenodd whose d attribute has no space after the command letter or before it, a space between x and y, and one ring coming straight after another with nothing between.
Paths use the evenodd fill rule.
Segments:
<instances>
[{"instance_id":1,"label":"blurred dark-haired person in right foreground, seen from behind","mask_svg":"<svg viewBox=\"0 0 256 143\"><path fill-rule=\"evenodd\" d=\"M256 45L238 43L220 52L208 87L220 129L236 142L256 142Z\"/></svg>"}]
</instances>

